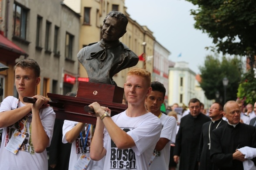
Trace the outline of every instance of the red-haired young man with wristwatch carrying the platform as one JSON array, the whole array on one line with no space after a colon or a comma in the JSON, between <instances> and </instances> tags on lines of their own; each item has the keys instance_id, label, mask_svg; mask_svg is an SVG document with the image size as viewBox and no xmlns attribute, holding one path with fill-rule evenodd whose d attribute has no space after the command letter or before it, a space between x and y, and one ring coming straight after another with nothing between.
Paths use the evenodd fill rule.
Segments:
<instances>
[{"instance_id":1,"label":"red-haired young man with wristwatch carrying the platform","mask_svg":"<svg viewBox=\"0 0 256 170\"><path fill-rule=\"evenodd\" d=\"M100 160L106 155L104 170L149 169L162 127L160 120L144 105L151 92L150 82L150 72L131 69L124 84L128 108L111 118L109 108L97 102L90 105L97 117L90 157Z\"/></svg>"}]
</instances>

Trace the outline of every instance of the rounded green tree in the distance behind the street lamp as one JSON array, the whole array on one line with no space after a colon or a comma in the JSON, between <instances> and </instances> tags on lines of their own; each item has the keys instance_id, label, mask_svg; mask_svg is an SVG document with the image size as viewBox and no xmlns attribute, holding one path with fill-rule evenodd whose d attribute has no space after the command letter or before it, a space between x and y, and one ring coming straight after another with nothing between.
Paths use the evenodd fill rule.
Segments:
<instances>
[{"instance_id":1,"label":"rounded green tree in the distance behind the street lamp","mask_svg":"<svg viewBox=\"0 0 256 170\"><path fill-rule=\"evenodd\" d=\"M220 61L217 55L206 56L205 63L199 66L201 72L200 86L205 91L205 96L209 100L215 99L215 93L218 91L220 98L224 101L224 86L222 79L227 77L229 84L226 88L226 100L236 100L236 93L241 81L242 59L222 57Z\"/></svg>"}]
</instances>

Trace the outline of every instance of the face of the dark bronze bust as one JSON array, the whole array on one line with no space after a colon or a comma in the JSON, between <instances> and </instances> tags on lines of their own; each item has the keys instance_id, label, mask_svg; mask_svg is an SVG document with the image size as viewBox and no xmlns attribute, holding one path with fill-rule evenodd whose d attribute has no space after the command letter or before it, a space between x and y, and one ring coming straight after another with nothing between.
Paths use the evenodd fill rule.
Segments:
<instances>
[{"instance_id":1,"label":"face of the dark bronze bust","mask_svg":"<svg viewBox=\"0 0 256 170\"><path fill-rule=\"evenodd\" d=\"M123 36L123 26L121 21L115 17L108 16L102 26L102 39L104 41L116 41Z\"/></svg>"}]
</instances>

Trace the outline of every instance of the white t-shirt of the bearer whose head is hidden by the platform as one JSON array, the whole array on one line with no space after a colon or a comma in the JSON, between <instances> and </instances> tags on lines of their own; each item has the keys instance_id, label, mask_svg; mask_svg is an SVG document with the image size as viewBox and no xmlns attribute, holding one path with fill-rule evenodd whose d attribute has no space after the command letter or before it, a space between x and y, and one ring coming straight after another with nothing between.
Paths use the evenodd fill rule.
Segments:
<instances>
[{"instance_id":1,"label":"white t-shirt of the bearer whose head is hidden by the platform","mask_svg":"<svg viewBox=\"0 0 256 170\"><path fill-rule=\"evenodd\" d=\"M68 121L68 120L64 121L64 124L62 127L62 134L63 134L62 135L62 143L64 143L64 144L68 143L66 141L65 135L68 131L70 131L73 127L75 127L76 124L78 124L77 121ZM85 147L85 149L86 149L86 153L84 152L85 155L87 157L90 156L90 145L91 145L91 141L92 141L91 134L92 134L93 127L91 125L89 131L88 131L88 127L89 127L89 124L85 124L85 128L83 128L83 130L82 130L82 138L83 138L84 143L82 143L82 141L81 141L81 134L72 143L68 170L74 170L75 164L76 164L77 160L79 159L79 157L82 155L82 152L84 150L83 147ZM87 132L89 132L89 134L88 134L87 141L85 144ZM102 170L104 167L104 160L105 160L105 157L103 157L99 161L90 160L86 170Z\"/></svg>"}]
</instances>

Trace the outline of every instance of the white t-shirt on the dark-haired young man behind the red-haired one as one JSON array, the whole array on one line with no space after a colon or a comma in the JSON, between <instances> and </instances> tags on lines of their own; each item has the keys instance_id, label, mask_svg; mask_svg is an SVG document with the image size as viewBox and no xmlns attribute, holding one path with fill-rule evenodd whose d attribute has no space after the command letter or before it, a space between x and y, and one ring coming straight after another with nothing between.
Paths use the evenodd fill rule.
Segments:
<instances>
[{"instance_id":1,"label":"white t-shirt on the dark-haired young man behind the red-haired one","mask_svg":"<svg viewBox=\"0 0 256 170\"><path fill-rule=\"evenodd\" d=\"M162 123L160 138L166 138L170 141L165 145L162 150L154 150L156 157L154 158L153 162L149 167L150 170L169 170L170 148L171 144L174 144L176 139L176 119L173 116L167 116L165 114L162 114L160 117L160 121Z\"/></svg>"}]
</instances>

